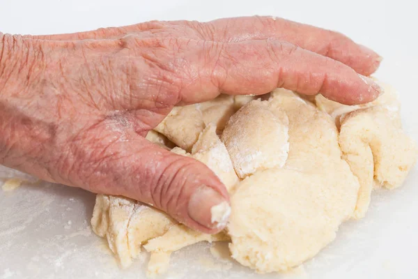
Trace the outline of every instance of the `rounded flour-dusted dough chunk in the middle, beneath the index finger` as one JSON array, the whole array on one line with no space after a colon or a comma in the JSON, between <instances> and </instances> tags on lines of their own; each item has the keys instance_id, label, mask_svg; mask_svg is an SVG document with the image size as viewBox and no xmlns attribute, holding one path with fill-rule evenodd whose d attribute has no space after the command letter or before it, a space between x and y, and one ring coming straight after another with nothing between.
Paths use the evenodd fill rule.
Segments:
<instances>
[{"instance_id":1,"label":"rounded flour-dusted dough chunk in the middle, beneath the index finger","mask_svg":"<svg viewBox=\"0 0 418 279\"><path fill-rule=\"evenodd\" d=\"M222 142L241 179L286 163L288 117L273 106L268 101L252 100L229 119L222 134Z\"/></svg>"}]
</instances>

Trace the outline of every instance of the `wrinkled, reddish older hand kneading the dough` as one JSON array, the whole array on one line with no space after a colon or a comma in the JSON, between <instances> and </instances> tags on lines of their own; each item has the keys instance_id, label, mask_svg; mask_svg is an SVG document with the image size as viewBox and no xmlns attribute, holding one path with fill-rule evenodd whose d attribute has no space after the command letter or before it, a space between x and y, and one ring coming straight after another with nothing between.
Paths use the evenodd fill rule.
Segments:
<instances>
[{"instance_id":1,"label":"wrinkled, reddish older hand kneading the dough","mask_svg":"<svg viewBox=\"0 0 418 279\"><path fill-rule=\"evenodd\" d=\"M202 163L145 140L148 130L174 105L221 92L284 87L366 103L381 89L357 73L380 60L339 33L273 17L0 33L0 164L131 197L215 233L210 209L229 202L226 189Z\"/></svg>"}]
</instances>

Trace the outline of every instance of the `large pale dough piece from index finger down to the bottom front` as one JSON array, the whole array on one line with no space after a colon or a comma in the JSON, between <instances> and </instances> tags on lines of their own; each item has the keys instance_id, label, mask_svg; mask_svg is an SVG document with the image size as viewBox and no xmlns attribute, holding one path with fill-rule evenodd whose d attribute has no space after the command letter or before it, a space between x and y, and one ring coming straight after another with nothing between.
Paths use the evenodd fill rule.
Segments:
<instances>
[{"instance_id":1,"label":"large pale dough piece from index finger down to the bottom front","mask_svg":"<svg viewBox=\"0 0 418 279\"><path fill-rule=\"evenodd\" d=\"M284 271L316 255L352 216L359 189L327 114L283 89L270 102L288 115L287 163L238 185L228 226L232 257L260 272Z\"/></svg>"}]
</instances>

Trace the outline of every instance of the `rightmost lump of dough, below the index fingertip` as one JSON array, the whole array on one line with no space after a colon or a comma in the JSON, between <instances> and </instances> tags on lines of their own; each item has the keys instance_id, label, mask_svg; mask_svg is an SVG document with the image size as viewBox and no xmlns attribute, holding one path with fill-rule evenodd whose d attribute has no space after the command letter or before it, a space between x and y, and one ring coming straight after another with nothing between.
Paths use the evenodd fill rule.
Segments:
<instances>
[{"instance_id":1,"label":"rightmost lump of dough, below the index fingertip","mask_svg":"<svg viewBox=\"0 0 418 279\"><path fill-rule=\"evenodd\" d=\"M355 218L365 216L373 185L401 186L417 158L415 143L401 128L399 93L389 84L378 83L385 93L364 105L341 105L316 96L318 108L341 126L343 158L360 182Z\"/></svg>"}]
</instances>

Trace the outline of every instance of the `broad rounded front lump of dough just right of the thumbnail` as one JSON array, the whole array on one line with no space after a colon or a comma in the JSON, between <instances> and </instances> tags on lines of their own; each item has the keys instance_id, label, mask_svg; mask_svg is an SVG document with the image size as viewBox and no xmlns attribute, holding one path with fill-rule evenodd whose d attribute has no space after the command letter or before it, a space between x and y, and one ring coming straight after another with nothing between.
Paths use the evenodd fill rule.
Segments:
<instances>
[{"instance_id":1,"label":"broad rounded front lump of dough just right of the thumbnail","mask_svg":"<svg viewBox=\"0 0 418 279\"><path fill-rule=\"evenodd\" d=\"M349 172L342 174L348 182L333 175L274 168L242 181L231 200L232 257L262 273L314 257L355 207L357 181Z\"/></svg>"}]
</instances>

